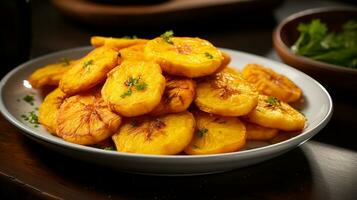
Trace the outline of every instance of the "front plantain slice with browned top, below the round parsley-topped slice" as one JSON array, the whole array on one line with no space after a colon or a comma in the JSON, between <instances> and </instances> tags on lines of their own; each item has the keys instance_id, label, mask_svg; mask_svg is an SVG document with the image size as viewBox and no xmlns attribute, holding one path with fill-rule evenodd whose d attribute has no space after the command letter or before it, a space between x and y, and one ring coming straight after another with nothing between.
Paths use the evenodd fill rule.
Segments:
<instances>
[{"instance_id":1,"label":"front plantain slice with browned top, below the round parsley-topped slice","mask_svg":"<svg viewBox=\"0 0 357 200\"><path fill-rule=\"evenodd\" d=\"M190 112L127 119L112 136L120 152L178 154L190 143L195 119Z\"/></svg>"}]
</instances>

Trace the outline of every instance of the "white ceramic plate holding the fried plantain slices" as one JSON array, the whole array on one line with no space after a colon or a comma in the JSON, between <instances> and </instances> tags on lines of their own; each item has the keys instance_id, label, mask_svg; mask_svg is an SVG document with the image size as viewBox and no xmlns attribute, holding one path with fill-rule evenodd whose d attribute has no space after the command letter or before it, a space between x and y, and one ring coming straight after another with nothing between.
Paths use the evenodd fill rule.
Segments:
<instances>
[{"instance_id":1,"label":"white ceramic plate holding the fried plantain slices","mask_svg":"<svg viewBox=\"0 0 357 200\"><path fill-rule=\"evenodd\" d=\"M250 144L258 146L239 152L202 155L202 156L156 156L131 153L119 153L97 148L68 143L50 135L43 127L35 128L24 121L21 115L34 110L42 102L38 91L31 88L26 81L35 69L63 58L79 58L88 52L90 47L70 49L49 54L28 61L8 73L0 85L0 110L12 124L35 141L69 156L110 166L122 171L146 174L192 175L228 171L259 163L276 157L304 143L318 133L332 115L332 101L328 92L315 80L304 73L285 64L271 61L259 56L239 51L223 49L232 57L231 65L241 69L247 63L258 63L268 66L293 80L303 91L305 98L302 113L308 119L305 130L288 140L276 144ZM31 106L22 99L26 94L35 97L35 105Z\"/></svg>"}]
</instances>

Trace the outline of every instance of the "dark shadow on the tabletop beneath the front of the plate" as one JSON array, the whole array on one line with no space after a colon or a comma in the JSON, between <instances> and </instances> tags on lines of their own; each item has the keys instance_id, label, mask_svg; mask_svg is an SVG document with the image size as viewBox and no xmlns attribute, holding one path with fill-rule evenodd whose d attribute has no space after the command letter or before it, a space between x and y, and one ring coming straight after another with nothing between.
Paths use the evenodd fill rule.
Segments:
<instances>
[{"instance_id":1,"label":"dark shadow on the tabletop beneath the front of the plate","mask_svg":"<svg viewBox=\"0 0 357 200\"><path fill-rule=\"evenodd\" d=\"M65 182L66 187L77 188L74 191L81 191L82 195L86 191L99 192L105 198L129 199L309 199L313 195L311 168L301 148L226 173L164 177L122 173L74 160L44 150L32 141L26 141L24 146L33 154L31 156L42 161L40 167L46 168L54 176L52 179ZM61 195L65 198L69 194Z\"/></svg>"}]
</instances>

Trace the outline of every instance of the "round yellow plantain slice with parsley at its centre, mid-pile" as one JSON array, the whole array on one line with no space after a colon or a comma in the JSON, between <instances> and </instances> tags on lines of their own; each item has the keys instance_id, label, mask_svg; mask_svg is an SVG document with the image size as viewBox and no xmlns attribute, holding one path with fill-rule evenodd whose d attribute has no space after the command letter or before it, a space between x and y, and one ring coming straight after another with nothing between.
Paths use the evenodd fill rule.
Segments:
<instances>
[{"instance_id":1,"label":"round yellow plantain slice with parsley at its centre, mid-pile","mask_svg":"<svg viewBox=\"0 0 357 200\"><path fill-rule=\"evenodd\" d=\"M127 60L109 73L102 95L113 111L134 117L151 112L164 89L165 78L158 64Z\"/></svg>"}]
</instances>

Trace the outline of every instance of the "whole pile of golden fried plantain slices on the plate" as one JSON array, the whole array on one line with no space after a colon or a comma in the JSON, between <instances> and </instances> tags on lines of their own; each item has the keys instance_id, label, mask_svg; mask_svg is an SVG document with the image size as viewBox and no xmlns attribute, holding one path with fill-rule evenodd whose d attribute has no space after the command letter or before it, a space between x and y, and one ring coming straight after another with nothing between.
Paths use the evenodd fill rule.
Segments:
<instances>
[{"instance_id":1,"label":"whole pile of golden fried plantain slices on the plate","mask_svg":"<svg viewBox=\"0 0 357 200\"><path fill-rule=\"evenodd\" d=\"M127 153L202 155L239 151L251 140L280 141L305 127L305 117L287 104L302 102L295 83L258 64L241 72L206 40L166 32L152 40L91 42L95 48L84 57L29 77L40 93L58 85L44 98L38 121L65 141ZM32 96L23 100L34 106ZM21 117L37 123L35 112Z\"/></svg>"}]
</instances>

